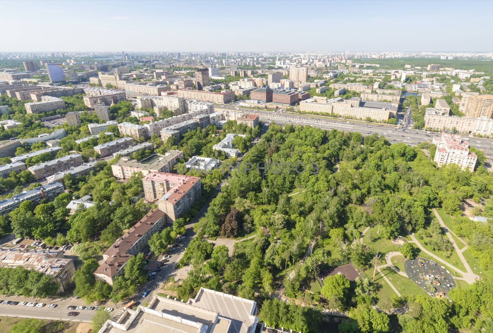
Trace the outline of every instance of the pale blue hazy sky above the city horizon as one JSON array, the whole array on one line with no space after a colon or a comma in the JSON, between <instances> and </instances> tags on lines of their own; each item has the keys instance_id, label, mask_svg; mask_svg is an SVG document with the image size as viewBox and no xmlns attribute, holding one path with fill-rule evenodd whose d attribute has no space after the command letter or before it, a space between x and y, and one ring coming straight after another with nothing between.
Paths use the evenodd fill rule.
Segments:
<instances>
[{"instance_id":1,"label":"pale blue hazy sky above the city horizon","mask_svg":"<svg viewBox=\"0 0 493 333\"><path fill-rule=\"evenodd\" d=\"M0 52L493 51L490 0L0 0L0 11L15 27Z\"/></svg>"}]
</instances>

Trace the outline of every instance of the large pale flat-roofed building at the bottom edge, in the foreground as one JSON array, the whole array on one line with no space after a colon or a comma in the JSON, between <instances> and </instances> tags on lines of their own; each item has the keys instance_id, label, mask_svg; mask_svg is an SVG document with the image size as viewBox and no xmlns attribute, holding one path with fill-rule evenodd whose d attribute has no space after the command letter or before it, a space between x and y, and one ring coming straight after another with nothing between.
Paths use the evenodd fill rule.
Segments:
<instances>
[{"instance_id":1,"label":"large pale flat-roofed building at the bottom edge, in the foreground","mask_svg":"<svg viewBox=\"0 0 493 333\"><path fill-rule=\"evenodd\" d=\"M114 321L108 319L98 333L255 333L256 302L200 288L195 299L173 300L155 296L147 306L125 310ZM165 330L161 330L165 328ZM287 332L287 331L286 331Z\"/></svg>"}]
</instances>

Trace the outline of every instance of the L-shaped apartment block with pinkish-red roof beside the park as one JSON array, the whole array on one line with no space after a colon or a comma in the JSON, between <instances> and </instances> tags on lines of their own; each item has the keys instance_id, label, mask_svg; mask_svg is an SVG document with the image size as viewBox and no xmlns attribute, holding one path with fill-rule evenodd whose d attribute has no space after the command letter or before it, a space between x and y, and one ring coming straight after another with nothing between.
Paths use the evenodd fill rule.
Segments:
<instances>
[{"instance_id":1,"label":"L-shaped apartment block with pinkish-red roof beside the park","mask_svg":"<svg viewBox=\"0 0 493 333\"><path fill-rule=\"evenodd\" d=\"M202 196L199 177L152 172L142 178L145 200L158 200L168 221L175 221Z\"/></svg>"}]
</instances>

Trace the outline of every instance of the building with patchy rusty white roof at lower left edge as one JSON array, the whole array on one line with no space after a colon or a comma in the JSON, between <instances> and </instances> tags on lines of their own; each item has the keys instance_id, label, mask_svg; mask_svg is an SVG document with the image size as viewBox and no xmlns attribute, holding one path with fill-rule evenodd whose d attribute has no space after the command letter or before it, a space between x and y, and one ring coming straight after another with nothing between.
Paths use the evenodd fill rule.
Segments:
<instances>
[{"instance_id":1,"label":"building with patchy rusty white roof at lower left edge","mask_svg":"<svg viewBox=\"0 0 493 333\"><path fill-rule=\"evenodd\" d=\"M75 271L73 259L65 258L63 251L27 248L0 248L0 267L23 267L52 276L60 293L72 285Z\"/></svg>"}]
</instances>

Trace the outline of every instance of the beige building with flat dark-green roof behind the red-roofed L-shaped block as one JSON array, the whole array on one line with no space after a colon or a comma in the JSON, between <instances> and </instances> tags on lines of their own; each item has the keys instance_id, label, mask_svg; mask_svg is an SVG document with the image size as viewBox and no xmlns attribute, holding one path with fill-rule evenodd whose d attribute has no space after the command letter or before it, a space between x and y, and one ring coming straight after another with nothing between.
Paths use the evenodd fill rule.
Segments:
<instances>
[{"instance_id":1,"label":"beige building with flat dark-green roof behind the red-roofed L-shaped block","mask_svg":"<svg viewBox=\"0 0 493 333\"><path fill-rule=\"evenodd\" d=\"M144 176L151 172L171 172L179 159L183 159L183 152L169 150L165 155L153 154L137 162L128 158L121 158L111 166L113 176L128 179L135 172L142 172Z\"/></svg>"}]
</instances>

